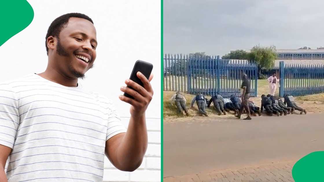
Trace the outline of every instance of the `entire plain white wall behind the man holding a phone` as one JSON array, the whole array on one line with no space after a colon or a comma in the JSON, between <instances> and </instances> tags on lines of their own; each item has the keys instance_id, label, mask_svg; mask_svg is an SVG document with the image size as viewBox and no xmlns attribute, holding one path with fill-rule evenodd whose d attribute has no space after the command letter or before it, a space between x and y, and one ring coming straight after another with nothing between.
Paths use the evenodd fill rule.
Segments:
<instances>
[{"instance_id":1,"label":"entire plain white wall behind the man holding a phone","mask_svg":"<svg viewBox=\"0 0 324 182\"><path fill-rule=\"evenodd\" d=\"M146 111L149 146L143 164L132 173L116 170L105 161L104 181L160 181L161 160L161 2L28 0L34 10L31 24L0 47L0 82L45 71L45 36L51 22L66 13L89 16L97 30L94 67L79 83L112 99L127 127L129 105L119 100L121 86L136 60L153 64L153 100Z\"/></svg>"}]
</instances>

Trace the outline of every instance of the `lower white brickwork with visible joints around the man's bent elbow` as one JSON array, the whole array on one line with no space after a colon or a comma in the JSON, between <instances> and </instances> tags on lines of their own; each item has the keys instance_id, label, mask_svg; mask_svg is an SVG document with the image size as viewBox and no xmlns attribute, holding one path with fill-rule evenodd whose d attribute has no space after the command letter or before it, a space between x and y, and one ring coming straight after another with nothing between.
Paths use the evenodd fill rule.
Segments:
<instances>
[{"instance_id":1,"label":"lower white brickwork with visible joints around the man's bent elbow","mask_svg":"<svg viewBox=\"0 0 324 182\"><path fill-rule=\"evenodd\" d=\"M129 118L121 118L125 127ZM133 172L116 169L105 157L104 182L160 182L161 181L161 119L146 118L148 147L142 165Z\"/></svg>"}]
</instances>

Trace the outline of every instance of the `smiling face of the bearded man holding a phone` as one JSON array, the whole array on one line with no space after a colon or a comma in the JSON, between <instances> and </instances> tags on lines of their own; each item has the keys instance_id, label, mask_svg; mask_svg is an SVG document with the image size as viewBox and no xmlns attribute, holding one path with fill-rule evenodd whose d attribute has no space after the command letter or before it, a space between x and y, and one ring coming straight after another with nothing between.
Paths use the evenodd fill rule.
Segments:
<instances>
[{"instance_id":1,"label":"smiling face of the bearded man holding a phone","mask_svg":"<svg viewBox=\"0 0 324 182\"><path fill-rule=\"evenodd\" d=\"M71 78L83 79L84 74L93 67L96 48L97 33L93 24L86 19L72 17L57 39L55 54L61 59L54 60L55 67Z\"/></svg>"}]
</instances>

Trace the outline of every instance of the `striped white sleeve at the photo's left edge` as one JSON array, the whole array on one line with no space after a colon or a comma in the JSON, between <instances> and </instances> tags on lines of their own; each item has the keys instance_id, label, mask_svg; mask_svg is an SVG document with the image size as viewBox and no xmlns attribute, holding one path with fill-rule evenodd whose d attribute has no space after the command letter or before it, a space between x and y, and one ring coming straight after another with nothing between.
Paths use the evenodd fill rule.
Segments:
<instances>
[{"instance_id":1,"label":"striped white sleeve at the photo's left edge","mask_svg":"<svg viewBox=\"0 0 324 182\"><path fill-rule=\"evenodd\" d=\"M19 127L19 101L8 84L0 83L0 144L13 148Z\"/></svg>"}]
</instances>

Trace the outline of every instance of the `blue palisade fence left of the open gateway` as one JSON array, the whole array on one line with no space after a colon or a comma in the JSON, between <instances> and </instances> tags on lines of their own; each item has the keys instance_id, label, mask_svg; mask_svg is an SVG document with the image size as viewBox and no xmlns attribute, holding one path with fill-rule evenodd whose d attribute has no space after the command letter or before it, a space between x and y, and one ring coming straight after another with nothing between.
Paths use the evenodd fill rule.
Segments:
<instances>
[{"instance_id":1,"label":"blue palisade fence left of the open gateway","mask_svg":"<svg viewBox=\"0 0 324 182\"><path fill-rule=\"evenodd\" d=\"M257 97L258 67L254 62L219 59L219 56L165 54L163 65L164 91L240 97L242 74L245 73L251 84L250 96Z\"/></svg>"}]
</instances>

